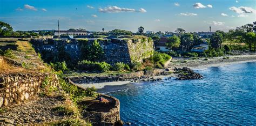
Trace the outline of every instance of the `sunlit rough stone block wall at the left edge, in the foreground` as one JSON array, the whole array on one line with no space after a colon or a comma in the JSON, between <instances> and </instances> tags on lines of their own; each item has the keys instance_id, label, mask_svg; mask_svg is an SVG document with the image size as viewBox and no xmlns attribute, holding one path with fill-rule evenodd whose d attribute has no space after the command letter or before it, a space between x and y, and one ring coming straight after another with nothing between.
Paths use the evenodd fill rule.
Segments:
<instances>
[{"instance_id":1,"label":"sunlit rough stone block wall at the left edge, in the foreground","mask_svg":"<svg viewBox=\"0 0 256 126\"><path fill-rule=\"evenodd\" d=\"M16 73L0 76L0 107L26 102L37 95L45 77L44 73ZM52 75L52 86L58 84L58 78Z\"/></svg>"}]
</instances>

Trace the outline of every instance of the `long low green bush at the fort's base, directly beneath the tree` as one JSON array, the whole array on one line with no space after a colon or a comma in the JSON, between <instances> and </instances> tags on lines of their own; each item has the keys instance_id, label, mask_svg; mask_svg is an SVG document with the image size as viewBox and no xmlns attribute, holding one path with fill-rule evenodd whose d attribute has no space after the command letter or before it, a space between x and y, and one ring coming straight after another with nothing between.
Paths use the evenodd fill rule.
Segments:
<instances>
[{"instance_id":1,"label":"long low green bush at the fort's base, directly beneath the tree","mask_svg":"<svg viewBox=\"0 0 256 126\"><path fill-rule=\"evenodd\" d=\"M78 69L88 70L88 71L97 71L97 72L107 72L111 68L110 64L106 62L92 62L92 61L79 61Z\"/></svg>"}]
</instances>

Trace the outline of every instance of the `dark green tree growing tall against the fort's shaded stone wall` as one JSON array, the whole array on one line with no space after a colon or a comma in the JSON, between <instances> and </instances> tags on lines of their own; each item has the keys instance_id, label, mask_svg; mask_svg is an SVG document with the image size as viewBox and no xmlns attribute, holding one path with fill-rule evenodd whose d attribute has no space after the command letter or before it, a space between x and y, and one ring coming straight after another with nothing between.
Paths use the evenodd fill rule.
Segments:
<instances>
[{"instance_id":1,"label":"dark green tree growing tall against the fort's shaded stone wall","mask_svg":"<svg viewBox=\"0 0 256 126\"><path fill-rule=\"evenodd\" d=\"M99 59L104 54L102 47L100 46L97 40L93 41L89 49L89 60L90 61L99 61Z\"/></svg>"}]
</instances>

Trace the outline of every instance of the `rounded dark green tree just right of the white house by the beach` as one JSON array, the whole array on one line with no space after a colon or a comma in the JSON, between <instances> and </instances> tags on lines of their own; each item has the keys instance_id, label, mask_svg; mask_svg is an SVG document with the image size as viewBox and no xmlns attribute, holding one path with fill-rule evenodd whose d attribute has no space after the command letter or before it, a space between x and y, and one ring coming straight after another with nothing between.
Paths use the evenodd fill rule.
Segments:
<instances>
[{"instance_id":1,"label":"rounded dark green tree just right of the white house by the beach","mask_svg":"<svg viewBox=\"0 0 256 126\"><path fill-rule=\"evenodd\" d=\"M217 50L218 48L221 48L221 44L223 43L223 34L220 32L215 32L211 35L211 47Z\"/></svg>"}]
</instances>

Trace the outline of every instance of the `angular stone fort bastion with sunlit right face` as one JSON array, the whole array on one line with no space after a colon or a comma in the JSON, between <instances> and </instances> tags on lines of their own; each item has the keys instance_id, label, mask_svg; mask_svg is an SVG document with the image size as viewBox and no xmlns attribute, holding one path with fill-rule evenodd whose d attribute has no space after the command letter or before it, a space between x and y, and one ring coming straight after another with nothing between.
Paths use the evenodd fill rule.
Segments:
<instances>
[{"instance_id":1,"label":"angular stone fort bastion with sunlit right face","mask_svg":"<svg viewBox=\"0 0 256 126\"><path fill-rule=\"evenodd\" d=\"M81 56L79 39L31 39L31 43L39 53L55 53L59 51L60 47L63 47L71 60L79 61ZM99 60L109 64L143 62L143 59L153 55L154 51L153 40L142 35L122 35L112 39L84 38L82 40L89 43L98 41L104 51L104 56Z\"/></svg>"}]
</instances>

